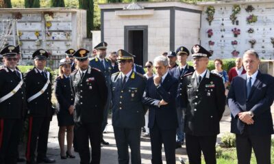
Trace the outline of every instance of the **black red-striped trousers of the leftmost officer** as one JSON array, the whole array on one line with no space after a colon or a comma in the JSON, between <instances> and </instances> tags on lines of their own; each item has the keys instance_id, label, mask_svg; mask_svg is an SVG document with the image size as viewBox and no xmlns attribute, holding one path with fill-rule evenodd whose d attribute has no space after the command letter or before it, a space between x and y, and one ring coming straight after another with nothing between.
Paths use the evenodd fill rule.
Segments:
<instances>
[{"instance_id":1,"label":"black red-striped trousers of the leftmost officer","mask_svg":"<svg viewBox=\"0 0 274 164\"><path fill-rule=\"evenodd\" d=\"M0 163L17 162L17 146L23 128L22 119L0 119Z\"/></svg>"}]
</instances>

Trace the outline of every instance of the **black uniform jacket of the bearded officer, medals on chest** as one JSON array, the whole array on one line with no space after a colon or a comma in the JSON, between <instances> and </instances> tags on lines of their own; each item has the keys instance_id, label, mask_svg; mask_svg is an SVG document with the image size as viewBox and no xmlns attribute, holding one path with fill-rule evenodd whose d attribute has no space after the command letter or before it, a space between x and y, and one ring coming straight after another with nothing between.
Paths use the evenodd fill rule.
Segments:
<instances>
[{"instance_id":1,"label":"black uniform jacket of the bearded officer, medals on chest","mask_svg":"<svg viewBox=\"0 0 274 164\"><path fill-rule=\"evenodd\" d=\"M103 108L108 97L108 88L102 72L88 67L81 77L80 70L71 73L74 102L74 122L97 123L103 120Z\"/></svg>"}]
</instances>

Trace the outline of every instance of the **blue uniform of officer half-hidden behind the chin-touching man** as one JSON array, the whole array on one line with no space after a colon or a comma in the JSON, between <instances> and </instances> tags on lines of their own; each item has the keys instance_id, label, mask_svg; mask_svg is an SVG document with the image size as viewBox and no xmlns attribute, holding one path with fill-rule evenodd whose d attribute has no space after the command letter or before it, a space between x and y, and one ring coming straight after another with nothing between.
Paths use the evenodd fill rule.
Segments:
<instances>
[{"instance_id":1,"label":"blue uniform of officer half-hidden behind the chin-touching man","mask_svg":"<svg viewBox=\"0 0 274 164\"><path fill-rule=\"evenodd\" d=\"M170 70L171 76L175 77L178 80L178 89L177 89L177 96L176 96L176 109L177 109L177 119L179 127L177 128L177 139L176 141L181 144L184 143L184 108L186 108L186 103L183 102L182 98L182 79L184 74L188 74L190 72L194 72L194 68L186 64L184 70L180 70L180 67L177 66Z\"/></svg>"}]
</instances>

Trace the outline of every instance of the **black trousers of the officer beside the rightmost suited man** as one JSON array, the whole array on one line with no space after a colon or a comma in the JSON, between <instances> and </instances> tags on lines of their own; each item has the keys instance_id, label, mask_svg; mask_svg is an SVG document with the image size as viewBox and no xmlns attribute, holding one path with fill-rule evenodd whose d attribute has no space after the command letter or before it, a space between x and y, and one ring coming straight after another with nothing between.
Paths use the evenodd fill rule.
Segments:
<instances>
[{"instance_id":1,"label":"black trousers of the officer beside the rightmost suited man","mask_svg":"<svg viewBox=\"0 0 274 164\"><path fill-rule=\"evenodd\" d=\"M201 151L206 164L216 164L216 135L194 136L186 134L186 152L189 164L201 164Z\"/></svg>"}]
</instances>

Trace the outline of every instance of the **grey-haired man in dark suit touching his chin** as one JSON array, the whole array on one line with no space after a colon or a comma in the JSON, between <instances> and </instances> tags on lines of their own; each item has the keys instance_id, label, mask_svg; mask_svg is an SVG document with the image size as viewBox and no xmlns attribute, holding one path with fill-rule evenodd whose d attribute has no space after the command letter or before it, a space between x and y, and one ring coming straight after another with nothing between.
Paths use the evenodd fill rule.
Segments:
<instances>
[{"instance_id":1,"label":"grey-haired man in dark suit touching his chin","mask_svg":"<svg viewBox=\"0 0 274 164\"><path fill-rule=\"evenodd\" d=\"M162 163L162 143L166 163L175 164L175 138L178 126L175 105L177 79L169 74L169 61L164 56L154 59L157 75L147 81L143 103L149 107L149 133L153 164Z\"/></svg>"}]
</instances>

